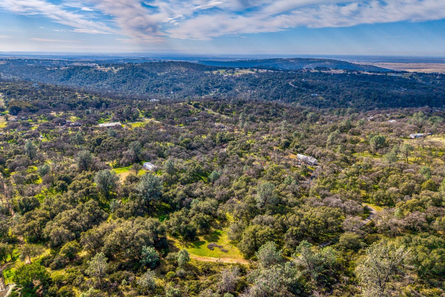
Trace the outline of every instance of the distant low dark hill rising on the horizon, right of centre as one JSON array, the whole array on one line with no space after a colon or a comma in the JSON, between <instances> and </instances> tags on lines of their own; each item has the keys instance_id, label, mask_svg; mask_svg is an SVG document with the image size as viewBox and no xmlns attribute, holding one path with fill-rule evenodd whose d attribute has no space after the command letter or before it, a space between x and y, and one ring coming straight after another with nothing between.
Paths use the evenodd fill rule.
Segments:
<instances>
[{"instance_id":1,"label":"distant low dark hill rising on the horizon, right of centre","mask_svg":"<svg viewBox=\"0 0 445 297\"><path fill-rule=\"evenodd\" d=\"M289 58L289 59L263 59L263 60L239 60L239 61L199 61L200 64L221 66L221 67L241 67L241 68L278 68L296 70L303 68L315 69L321 68L337 68L350 69L360 71L388 72L384 69L372 65L354 64L346 61L332 59L315 59L315 58Z\"/></svg>"}]
</instances>

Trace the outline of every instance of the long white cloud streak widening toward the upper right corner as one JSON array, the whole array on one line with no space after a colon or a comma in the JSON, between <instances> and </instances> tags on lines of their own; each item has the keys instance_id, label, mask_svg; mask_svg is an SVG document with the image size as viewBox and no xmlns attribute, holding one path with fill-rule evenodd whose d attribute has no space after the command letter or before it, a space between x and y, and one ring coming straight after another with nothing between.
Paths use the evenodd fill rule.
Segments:
<instances>
[{"instance_id":1,"label":"long white cloud streak widening toward the upper right corner","mask_svg":"<svg viewBox=\"0 0 445 297\"><path fill-rule=\"evenodd\" d=\"M299 26L349 27L357 24L445 18L443 0L387 0L385 3L372 0L341 5L323 4L331 1L316 1L320 4L315 6L303 0L286 1L287 3L281 1L281 6L279 2L263 5L258 11L241 15L231 12L218 15L200 14L182 22L177 28L169 29L168 32L176 38L205 40L230 34L277 32ZM295 9L287 10L290 7ZM273 13L268 13L269 8Z\"/></svg>"}]
</instances>

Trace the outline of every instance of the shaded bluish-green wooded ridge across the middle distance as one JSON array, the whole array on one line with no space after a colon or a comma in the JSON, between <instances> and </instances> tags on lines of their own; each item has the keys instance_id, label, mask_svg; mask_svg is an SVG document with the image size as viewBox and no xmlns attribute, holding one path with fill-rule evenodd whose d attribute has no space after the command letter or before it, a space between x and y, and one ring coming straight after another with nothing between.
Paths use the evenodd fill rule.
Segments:
<instances>
[{"instance_id":1,"label":"shaded bluish-green wooded ridge across the middle distance","mask_svg":"<svg viewBox=\"0 0 445 297\"><path fill-rule=\"evenodd\" d=\"M329 60L333 61L333 60ZM316 108L376 108L445 104L444 74L361 73L343 70L218 69L190 62L104 64L65 60L4 60L8 79L66 85L80 90L168 100L217 96L224 100L266 100Z\"/></svg>"}]
</instances>

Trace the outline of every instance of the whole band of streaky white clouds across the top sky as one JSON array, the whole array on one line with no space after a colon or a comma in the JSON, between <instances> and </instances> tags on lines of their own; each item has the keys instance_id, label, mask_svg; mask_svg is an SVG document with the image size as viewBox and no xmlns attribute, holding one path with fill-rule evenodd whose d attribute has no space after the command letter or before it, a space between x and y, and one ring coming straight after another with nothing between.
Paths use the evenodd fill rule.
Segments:
<instances>
[{"instance_id":1,"label":"whole band of streaky white clouds across the top sky","mask_svg":"<svg viewBox=\"0 0 445 297\"><path fill-rule=\"evenodd\" d=\"M71 31L121 41L219 36L445 19L444 0L0 0L0 10L41 15ZM73 8L77 8L73 10Z\"/></svg>"}]
</instances>

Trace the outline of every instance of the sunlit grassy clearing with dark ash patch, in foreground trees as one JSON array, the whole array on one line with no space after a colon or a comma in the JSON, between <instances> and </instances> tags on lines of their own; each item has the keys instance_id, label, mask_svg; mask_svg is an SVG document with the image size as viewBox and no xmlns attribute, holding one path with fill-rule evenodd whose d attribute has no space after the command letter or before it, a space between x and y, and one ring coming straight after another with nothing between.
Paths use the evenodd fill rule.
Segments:
<instances>
[{"instance_id":1,"label":"sunlit grassy clearing with dark ash patch, in foreground trees","mask_svg":"<svg viewBox=\"0 0 445 297\"><path fill-rule=\"evenodd\" d=\"M207 248L207 244L215 242L222 245L223 248L227 249L228 252L222 252L219 248L214 248L210 250ZM225 258L240 260L243 259L239 249L235 246L229 237L227 236L227 230L216 229L209 235L198 236L198 240L194 241L182 241L174 238L174 244L178 248L185 248L190 254L202 257L212 257L212 258Z\"/></svg>"}]
</instances>

